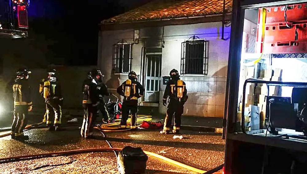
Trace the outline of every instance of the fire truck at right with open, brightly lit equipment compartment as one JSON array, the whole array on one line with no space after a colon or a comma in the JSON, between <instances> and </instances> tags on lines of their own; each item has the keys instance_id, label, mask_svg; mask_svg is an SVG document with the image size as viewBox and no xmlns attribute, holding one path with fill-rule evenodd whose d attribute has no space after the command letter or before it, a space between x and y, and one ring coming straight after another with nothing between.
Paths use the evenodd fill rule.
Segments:
<instances>
[{"instance_id":1,"label":"fire truck at right with open, brightly lit equipment compartment","mask_svg":"<svg viewBox=\"0 0 307 174\"><path fill-rule=\"evenodd\" d=\"M306 0L233 0L224 174L307 173L306 68Z\"/></svg>"}]
</instances>

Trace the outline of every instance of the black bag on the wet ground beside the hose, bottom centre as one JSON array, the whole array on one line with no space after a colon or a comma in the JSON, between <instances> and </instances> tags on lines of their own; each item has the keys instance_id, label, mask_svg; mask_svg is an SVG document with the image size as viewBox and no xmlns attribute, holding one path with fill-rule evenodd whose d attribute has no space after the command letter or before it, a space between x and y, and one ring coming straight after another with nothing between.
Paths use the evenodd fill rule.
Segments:
<instances>
[{"instance_id":1,"label":"black bag on the wet ground beside the hose, bottom centre","mask_svg":"<svg viewBox=\"0 0 307 174\"><path fill-rule=\"evenodd\" d=\"M118 171L120 174L145 174L147 159L142 148L126 146L117 157Z\"/></svg>"}]
</instances>

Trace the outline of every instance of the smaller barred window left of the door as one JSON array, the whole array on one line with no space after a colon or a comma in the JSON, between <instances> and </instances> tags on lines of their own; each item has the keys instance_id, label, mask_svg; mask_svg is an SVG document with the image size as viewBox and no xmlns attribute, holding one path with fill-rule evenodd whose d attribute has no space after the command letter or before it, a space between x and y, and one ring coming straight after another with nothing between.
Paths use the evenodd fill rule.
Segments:
<instances>
[{"instance_id":1,"label":"smaller barred window left of the door","mask_svg":"<svg viewBox=\"0 0 307 174\"><path fill-rule=\"evenodd\" d=\"M114 45L113 73L129 73L131 71L131 43Z\"/></svg>"}]
</instances>

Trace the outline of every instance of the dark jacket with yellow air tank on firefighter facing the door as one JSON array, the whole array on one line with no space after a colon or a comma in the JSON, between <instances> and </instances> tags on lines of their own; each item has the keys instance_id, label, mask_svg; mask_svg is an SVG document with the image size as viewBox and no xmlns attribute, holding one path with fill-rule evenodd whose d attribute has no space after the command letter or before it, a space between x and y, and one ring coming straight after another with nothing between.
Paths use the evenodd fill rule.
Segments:
<instances>
[{"instance_id":1,"label":"dark jacket with yellow air tank on firefighter facing the door","mask_svg":"<svg viewBox=\"0 0 307 174\"><path fill-rule=\"evenodd\" d=\"M138 81L128 79L117 88L117 93L124 100L137 100L144 95L144 87Z\"/></svg>"}]
</instances>

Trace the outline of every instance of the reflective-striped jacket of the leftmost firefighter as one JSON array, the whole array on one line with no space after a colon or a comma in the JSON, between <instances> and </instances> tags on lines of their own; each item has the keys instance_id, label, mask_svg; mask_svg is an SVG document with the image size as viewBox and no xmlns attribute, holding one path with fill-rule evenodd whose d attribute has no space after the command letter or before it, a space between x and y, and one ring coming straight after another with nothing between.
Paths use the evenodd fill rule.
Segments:
<instances>
[{"instance_id":1,"label":"reflective-striped jacket of the leftmost firefighter","mask_svg":"<svg viewBox=\"0 0 307 174\"><path fill-rule=\"evenodd\" d=\"M25 79L17 79L13 84L14 105L32 106L31 89Z\"/></svg>"}]
</instances>

